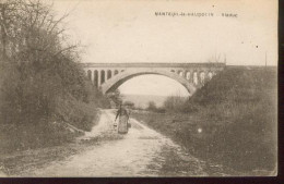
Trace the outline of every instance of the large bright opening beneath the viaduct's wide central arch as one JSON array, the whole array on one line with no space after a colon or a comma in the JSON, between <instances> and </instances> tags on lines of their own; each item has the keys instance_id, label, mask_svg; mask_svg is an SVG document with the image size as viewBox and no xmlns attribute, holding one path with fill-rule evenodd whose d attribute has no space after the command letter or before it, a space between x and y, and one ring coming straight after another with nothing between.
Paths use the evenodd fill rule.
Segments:
<instances>
[{"instance_id":1,"label":"large bright opening beneath the viaduct's wide central arch","mask_svg":"<svg viewBox=\"0 0 284 184\"><path fill-rule=\"evenodd\" d=\"M145 74L132 77L118 87L123 101L131 101L135 107L147 108L149 102L164 107L168 97L187 100L190 96L185 86L168 76Z\"/></svg>"}]
</instances>

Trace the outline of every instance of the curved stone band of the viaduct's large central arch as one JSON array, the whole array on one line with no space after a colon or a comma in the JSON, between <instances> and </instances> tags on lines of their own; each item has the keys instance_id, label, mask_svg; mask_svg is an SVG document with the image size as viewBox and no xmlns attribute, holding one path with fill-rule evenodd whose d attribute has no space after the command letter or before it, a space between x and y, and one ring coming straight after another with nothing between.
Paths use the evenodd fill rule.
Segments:
<instances>
[{"instance_id":1,"label":"curved stone band of the viaduct's large central arch","mask_svg":"<svg viewBox=\"0 0 284 184\"><path fill-rule=\"evenodd\" d=\"M166 70L157 70L157 69L132 69L127 70L121 73L119 73L116 77L110 78L106 83L102 85L102 91L104 94L111 93L115 89L117 89L121 84L127 82L128 79L131 79L135 76L140 75L146 75L146 74L156 74L156 75L164 75L169 78L175 79L176 82L180 83L185 88L188 90L190 95L194 94L197 87L187 81L185 77L178 75L177 73L166 71Z\"/></svg>"}]
</instances>

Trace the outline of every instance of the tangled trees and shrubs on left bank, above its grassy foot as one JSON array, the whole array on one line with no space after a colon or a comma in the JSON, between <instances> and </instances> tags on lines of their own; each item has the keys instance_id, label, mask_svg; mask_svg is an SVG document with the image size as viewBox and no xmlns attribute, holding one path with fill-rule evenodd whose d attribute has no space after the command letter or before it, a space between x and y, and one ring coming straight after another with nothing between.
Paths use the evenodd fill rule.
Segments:
<instances>
[{"instance_id":1,"label":"tangled trees and shrubs on left bank, above its grassy foot","mask_svg":"<svg viewBox=\"0 0 284 184\"><path fill-rule=\"evenodd\" d=\"M78 64L80 46L71 44L61 24L68 14L57 19L52 4L24 0L1 3L0 11L4 122L11 112L21 121L51 121L59 112L70 114L62 112L62 105L71 106L64 101L88 102L91 88Z\"/></svg>"}]
</instances>

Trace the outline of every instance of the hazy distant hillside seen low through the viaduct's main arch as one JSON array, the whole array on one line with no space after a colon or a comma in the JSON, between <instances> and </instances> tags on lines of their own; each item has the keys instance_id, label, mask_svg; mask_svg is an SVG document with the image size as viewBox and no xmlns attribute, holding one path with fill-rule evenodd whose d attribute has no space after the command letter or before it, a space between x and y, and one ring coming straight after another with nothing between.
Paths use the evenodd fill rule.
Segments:
<instances>
[{"instance_id":1,"label":"hazy distant hillside seen low through the viaduct's main arch","mask_svg":"<svg viewBox=\"0 0 284 184\"><path fill-rule=\"evenodd\" d=\"M149 101L154 101L157 107L162 107L167 96L155 96L155 95L125 95L122 94L123 101L131 101L135 107L146 108ZM185 97L186 99L187 97Z\"/></svg>"}]
</instances>

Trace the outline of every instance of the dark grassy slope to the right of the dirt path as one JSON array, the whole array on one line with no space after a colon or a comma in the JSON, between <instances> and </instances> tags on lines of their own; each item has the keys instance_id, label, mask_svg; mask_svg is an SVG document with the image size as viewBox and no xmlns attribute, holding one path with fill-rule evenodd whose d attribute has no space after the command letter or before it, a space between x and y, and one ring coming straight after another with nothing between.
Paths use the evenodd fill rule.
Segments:
<instances>
[{"instance_id":1,"label":"dark grassy slope to the right of the dirt path","mask_svg":"<svg viewBox=\"0 0 284 184\"><path fill-rule=\"evenodd\" d=\"M227 69L182 109L175 114L133 115L197 157L245 172L275 169L275 71Z\"/></svg>"}]
</instances>

